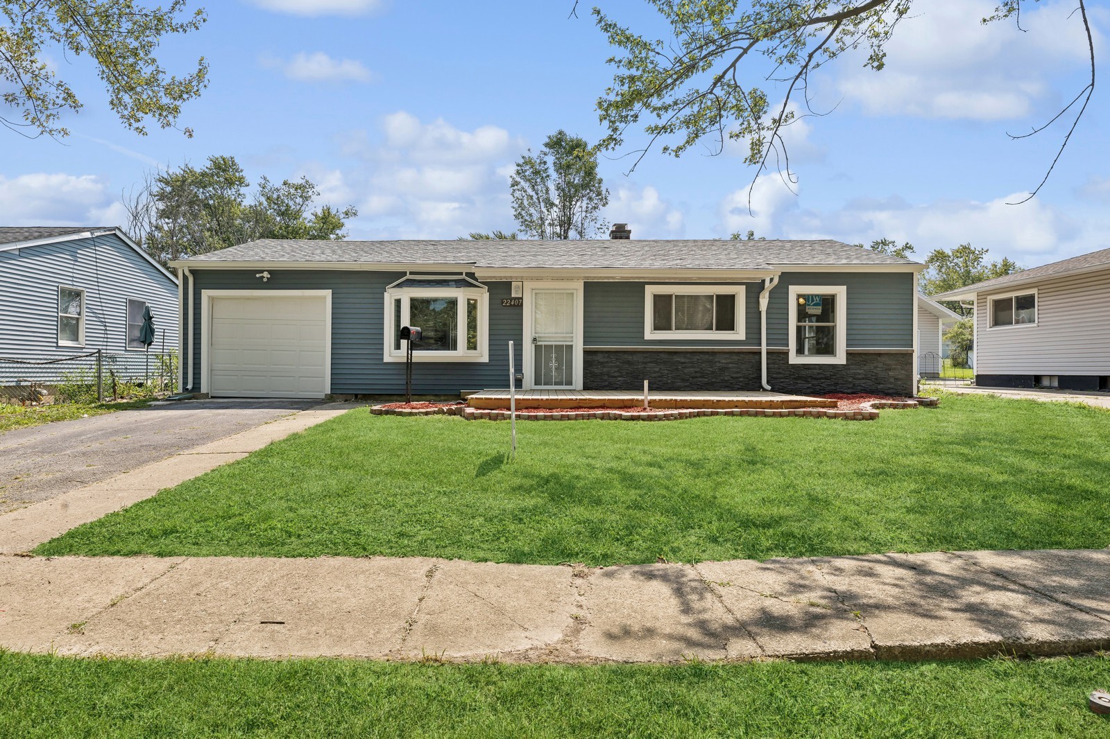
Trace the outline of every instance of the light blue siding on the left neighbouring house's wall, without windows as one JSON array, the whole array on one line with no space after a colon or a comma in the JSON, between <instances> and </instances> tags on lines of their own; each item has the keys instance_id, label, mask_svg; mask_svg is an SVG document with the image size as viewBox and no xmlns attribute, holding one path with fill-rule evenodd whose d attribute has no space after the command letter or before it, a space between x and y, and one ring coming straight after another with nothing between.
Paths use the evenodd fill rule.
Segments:
<instances>
[{"instance_id":1,"label":"light blue siding on the left neighbouring house's wall, without windows","mask_svg":"<svg viewBox=\"0 0 1110 739\"><path fill-rule=\"evenodd\" d=\"M84 290L84 347L58 345L58 286ZM128 298L150 304L158 338L178 347L178 284L115 235L0 252L0 355L127 351ZM164 332L164 334L163 334Z\"/></svg>"}]
</instances>

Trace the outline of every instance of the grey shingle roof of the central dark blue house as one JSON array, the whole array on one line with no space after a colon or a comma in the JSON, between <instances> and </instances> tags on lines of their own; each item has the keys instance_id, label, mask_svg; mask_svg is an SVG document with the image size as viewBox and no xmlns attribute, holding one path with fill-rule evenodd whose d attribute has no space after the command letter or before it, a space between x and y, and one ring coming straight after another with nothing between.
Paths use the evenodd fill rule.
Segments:
<instances>
[{"instance_id":1,"label":"grey shingle roof of the central dark blue house","mask_svg":"<svg viewBox=\"0 0 1110 739\"><path fill-rule=\"evenodd\" d=\"M262 239L189 260L467 264L478 269L767 270L776 265L915 264L838 241L480 240L301 241Z\"/></svg>"}]
</instances>

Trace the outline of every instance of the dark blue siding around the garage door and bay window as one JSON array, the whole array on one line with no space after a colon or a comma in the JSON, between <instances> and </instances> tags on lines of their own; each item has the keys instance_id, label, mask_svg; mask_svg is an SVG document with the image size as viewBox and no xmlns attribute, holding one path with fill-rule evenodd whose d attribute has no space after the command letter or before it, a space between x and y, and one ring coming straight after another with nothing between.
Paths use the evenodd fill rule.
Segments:
<instances>
[{"instance_id":1,"label":"dark blue siding around the garage door and bay window","mask_svg":"<svg viewBox=\"0 0 1110 739\"><path fill-rule=\"evenodd\" d=\"M262 282L256 270L193 270L193 389L201 378L202 290L331 290L332 291L332 394L395 395L405 389L403 362L383 361L385 287L401 280L400 272L359 270L270 270ZM418 362L413 365L413 392L457 394L465 389L505 387L508 383L508 342L516 344L521 372L522 312L502 307L508 297L507 282L486 283L490 288L490 361Z\"/></svg>"}]
</instances>

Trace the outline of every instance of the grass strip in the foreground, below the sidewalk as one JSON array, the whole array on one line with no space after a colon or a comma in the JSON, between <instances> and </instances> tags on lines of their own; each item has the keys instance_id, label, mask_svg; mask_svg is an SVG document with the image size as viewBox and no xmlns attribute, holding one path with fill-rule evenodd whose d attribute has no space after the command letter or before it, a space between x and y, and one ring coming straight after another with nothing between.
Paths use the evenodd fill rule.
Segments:
<instances>
[{"instance_id":1,"label":"grass strip in the foreground, below the sidewalk","mask_svg":"<svg viewBox=\"0 0 1110 739\"><path fill-rule=\"evenodd\" d=\"M683 667L0 652L0 736L1106 737L1110 660Z\"/></svg>"}]
</instances>

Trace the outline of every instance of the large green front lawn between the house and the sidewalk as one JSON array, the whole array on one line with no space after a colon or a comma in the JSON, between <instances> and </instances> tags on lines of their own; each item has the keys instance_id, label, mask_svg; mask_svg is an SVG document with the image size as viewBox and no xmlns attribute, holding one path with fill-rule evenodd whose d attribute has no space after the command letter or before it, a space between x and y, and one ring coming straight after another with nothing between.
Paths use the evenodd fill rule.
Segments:
<instances>
[{"instance_id":1,"label":"large green front lawn between the house and the sidewalk","mask_svg":"<svg viewBox=\"0 0 1110 739\"><path fill-rule=\"evenodd\" d=\"M946 396L876 422L373 416L272 444L39 555L589 565L1110 545L1110 413Z\"/></svg>"}]
</instances>

